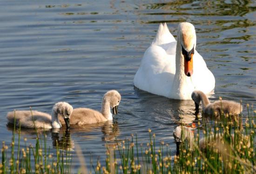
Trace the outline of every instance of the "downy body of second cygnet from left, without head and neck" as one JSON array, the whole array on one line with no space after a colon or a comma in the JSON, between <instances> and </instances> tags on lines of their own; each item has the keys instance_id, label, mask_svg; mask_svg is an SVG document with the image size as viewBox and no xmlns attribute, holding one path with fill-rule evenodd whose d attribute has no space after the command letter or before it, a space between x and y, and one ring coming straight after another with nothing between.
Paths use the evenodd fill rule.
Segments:
<instances>
[{"instance_id":1,"label":"downy body of second cygnet from left, without head and neck","mask_svg":"<svg viewBox=\"0 0 256 174\"><path fill-rule=\"evenodd\" d=\"M58 116L61 124L65 124L64 119ZM89 108L76 108L70 116L70 124L92 124L108 121L99 111Z\"/></svg>"}]
</instances>

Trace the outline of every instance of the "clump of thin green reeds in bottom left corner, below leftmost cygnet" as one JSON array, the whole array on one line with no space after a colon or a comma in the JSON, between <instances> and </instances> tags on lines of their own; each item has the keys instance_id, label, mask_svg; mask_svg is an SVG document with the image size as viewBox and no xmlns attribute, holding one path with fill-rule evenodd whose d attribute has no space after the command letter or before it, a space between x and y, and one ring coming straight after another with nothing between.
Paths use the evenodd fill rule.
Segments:
<instances>
[{"instance_id":1,"label":"clump of thin green reeds in bottom left corner, below leftmost cygnet","mask_svg":"<svg viewBox=\"0 0 256 174\"><path fill-rule=\"evenodd\" d=\"M33 115L32 115L33 116ZM18 147L15 149L15 111L14 111L14 127L12 143L10 150L5 142L2 142L2 161L0 163L0 173L6 174L31 174L31 173L45 173L45 174L67 174L70 173L70 166L72 155L64 147L60 148L56 142L56 157L50 154L46 145L46 134L37 134L35 146L27 145L27 139L24 138L25 148L20 150L20 128L18 136ZM64 144L63 144L64 146ZM11 154L8 157L8 154ZM17 153L17 156L15 155Z\"/></svg>"}]
</instances>

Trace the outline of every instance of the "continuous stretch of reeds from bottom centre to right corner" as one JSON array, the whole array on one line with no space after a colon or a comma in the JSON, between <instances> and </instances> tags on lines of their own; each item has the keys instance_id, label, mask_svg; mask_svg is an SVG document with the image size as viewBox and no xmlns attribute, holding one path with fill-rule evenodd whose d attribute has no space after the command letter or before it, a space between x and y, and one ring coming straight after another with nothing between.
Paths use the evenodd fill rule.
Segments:
<instances>
[{"instance_id":1,"label":"continuous stretch of reeds from bottom centre to right corner","mask_svg":"<svg viewBox=\"0 0 256 174\"><path fill-rule=\"evenodd\" d=\"M139 147L137 137L107 145L106 164L97 161L94 172L168 174L168 173L255 173L256 172L256 112L249 110L248 117L230 117L222 114L220 118L207 124L202 119L190 140L182 139L180 153L171 159L168 145L160 142L156 147L155 134L149 129L149 142ZM243 119L242 119L243 118ZM185 131L183 129L182 131ZM200 133L202 131L202 138ZM184 136L184 133L182 133Z\"/></svg>"}]
</instances>

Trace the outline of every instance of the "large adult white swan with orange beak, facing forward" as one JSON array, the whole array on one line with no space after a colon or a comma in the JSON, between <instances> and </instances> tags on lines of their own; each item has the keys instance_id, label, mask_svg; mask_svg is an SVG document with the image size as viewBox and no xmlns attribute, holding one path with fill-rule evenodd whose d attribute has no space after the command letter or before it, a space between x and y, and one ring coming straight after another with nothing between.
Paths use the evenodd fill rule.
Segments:
<instances>
[{"instance_id":1,"label":"large adult white swan with orange beak, facing forward","mask_svg":"<svg viewBox=\"0 0 256 174\"><path fill-rule=\"evenodd\" d=\"M192 24L179 24L177 41L166 23L160 24L135 74L134 85L156 95L180 100L191 99L194 90L209 93L214 89L215 78L195 47Z\"/></svg>"}]
</instances>

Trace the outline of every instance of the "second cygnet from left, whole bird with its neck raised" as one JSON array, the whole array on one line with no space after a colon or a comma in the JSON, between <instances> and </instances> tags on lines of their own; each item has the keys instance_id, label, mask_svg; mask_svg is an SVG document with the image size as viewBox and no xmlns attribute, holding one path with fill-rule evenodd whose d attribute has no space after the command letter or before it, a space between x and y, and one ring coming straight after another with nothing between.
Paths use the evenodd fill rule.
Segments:
<instances>
[{"instance_id":1,"label":"second cygnet from left, whole bird with its neck raised","mask_svg":"<svg viewBox=\"0 0 256 174\"><path fill-rule=\"evenodd\" d=\"M113 114L117 114L120 101L119 92L109 90L102 98L101 112L89 108L76 108L70 117L70 124L82 125L113 120L110 108L112 108ZM64 124L63 118L59 117L59 119Z\"/></svg>"}]
</instances>

